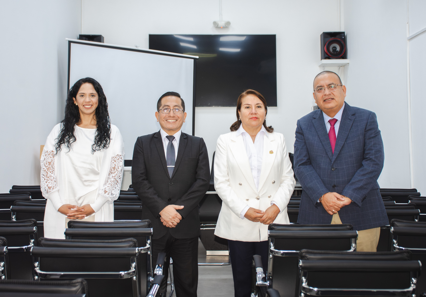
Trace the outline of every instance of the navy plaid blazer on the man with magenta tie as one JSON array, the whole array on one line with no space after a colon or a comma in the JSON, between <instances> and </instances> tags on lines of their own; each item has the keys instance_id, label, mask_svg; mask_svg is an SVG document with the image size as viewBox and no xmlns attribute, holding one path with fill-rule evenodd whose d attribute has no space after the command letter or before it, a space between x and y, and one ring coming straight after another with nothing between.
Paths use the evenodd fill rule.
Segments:
<instances>
[{"instance_id":1,"label":"navy plaid blazer on the man with magenta tie","mask_svg":"<svg viewBox=\"0 0 426 297\"><path fill-rule=\"evenodd\" d=\"M330 224L332 216L318 203L328 192L352 199L339 211L354 230L389 225L377 179L384 161L376 114L345 103L334 153L321 110L297 121L294 171L302 185L299 224Z\"/></svg>"}]
</instances>

